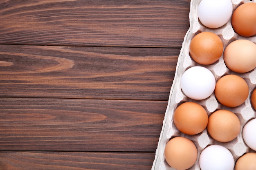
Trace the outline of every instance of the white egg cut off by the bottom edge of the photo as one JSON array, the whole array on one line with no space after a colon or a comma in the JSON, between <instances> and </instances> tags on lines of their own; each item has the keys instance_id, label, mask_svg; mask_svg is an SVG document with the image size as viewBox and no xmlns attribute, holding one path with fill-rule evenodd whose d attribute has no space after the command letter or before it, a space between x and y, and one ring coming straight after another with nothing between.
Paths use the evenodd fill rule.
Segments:
<instances>
[{"instance_id":1,"label":"white egg cut off by the bottom edge of the photo","mask_svg":"<svg viewBox=\"0 0 256 170\"><path fill-rule=\"evenodd\" d=\"M201 170L233 170L235 165L231 152L220 145L205 148L199 157Z\"/></svg>"}]
</instances>

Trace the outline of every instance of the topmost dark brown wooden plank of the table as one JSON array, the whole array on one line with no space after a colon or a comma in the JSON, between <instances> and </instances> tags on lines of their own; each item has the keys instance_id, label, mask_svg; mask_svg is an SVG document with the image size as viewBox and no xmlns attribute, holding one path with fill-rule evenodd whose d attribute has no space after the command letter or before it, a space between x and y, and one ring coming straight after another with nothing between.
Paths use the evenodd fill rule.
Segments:
<instances>
[{"instance_id":1,"label":"topmost dark brown wooden plank of the table","mask_svg":"<svg viewBox=\"0 0 256 170\"><path fill-rule=\"evenodd\" d=\"M2 0L0 44L181 47L190 0Z\"/></svg>"}]
</instances>

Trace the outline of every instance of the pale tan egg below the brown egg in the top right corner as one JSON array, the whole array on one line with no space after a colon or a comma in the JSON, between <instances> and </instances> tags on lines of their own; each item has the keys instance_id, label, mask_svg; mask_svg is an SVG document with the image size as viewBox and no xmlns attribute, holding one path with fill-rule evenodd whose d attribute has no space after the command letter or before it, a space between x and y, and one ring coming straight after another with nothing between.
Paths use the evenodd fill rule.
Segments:
<instances>
[{"instance_id":1,"label":"pale tan egg below the brown egg in the top right corner","mask_svg":"<svg viewBox=\"0 0 256 170\"><path fill-rule=\"evenodd\" d=\"M256 44L249 40L231 42L224 50L227 67L237 73L246 73L256 67Z\"/></svg>"}]
</instances>

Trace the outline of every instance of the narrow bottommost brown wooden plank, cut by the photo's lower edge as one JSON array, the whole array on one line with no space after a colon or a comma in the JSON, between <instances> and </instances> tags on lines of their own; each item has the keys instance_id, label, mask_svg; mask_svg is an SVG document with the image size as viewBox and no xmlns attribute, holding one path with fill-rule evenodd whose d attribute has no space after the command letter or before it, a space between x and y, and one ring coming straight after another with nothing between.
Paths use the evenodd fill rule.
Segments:
<instances>
[{"instance_id":1,"label":"narrow bottommost brown wooden plank, cut by the photo's lower edge","mask_svg":"<svg viewBox=\"0 0 256 170\"><path fill-rule=\"evenodd\" d=\"M154 153L0 152L0 170L149 170Z\"/></svg>"}]
</instances>

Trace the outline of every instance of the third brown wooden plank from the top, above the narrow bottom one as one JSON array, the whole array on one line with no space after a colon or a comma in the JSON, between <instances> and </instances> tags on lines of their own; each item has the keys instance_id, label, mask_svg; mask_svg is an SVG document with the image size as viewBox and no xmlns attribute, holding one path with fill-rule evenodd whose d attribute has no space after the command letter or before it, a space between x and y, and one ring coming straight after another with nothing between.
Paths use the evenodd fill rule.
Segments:
<instances>
[{"instance_id":1,"label":"third brown wooden plank from the top, above the narrow bottom one","mask_svg":"<svg viewBox=\"0 0 256 170\"><path fill-rule=\"evenodd\" d=\"M0 98L0 150L157 148L167 101Z\"/></svg>"}]
</instances>

